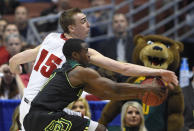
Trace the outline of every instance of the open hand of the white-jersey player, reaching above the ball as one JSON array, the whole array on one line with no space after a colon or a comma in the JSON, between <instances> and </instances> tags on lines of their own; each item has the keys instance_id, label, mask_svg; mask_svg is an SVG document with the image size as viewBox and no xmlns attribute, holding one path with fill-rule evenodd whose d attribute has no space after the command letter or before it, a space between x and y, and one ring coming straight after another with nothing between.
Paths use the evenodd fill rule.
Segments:
<instances>
[{"instance_id":1,"label":"open hand of the white-jersey player, reaching above the ball","mask_svg":"<svg viewBox=\"0 0 194 131\"><path fill-rule=\"evenodd\" d=\"M170 89L174 89L174 85L178 86L178 79L174 72L168 70L160 70L161 78L167 83Z\"/></svg>"}]
</instances>

